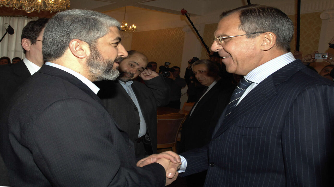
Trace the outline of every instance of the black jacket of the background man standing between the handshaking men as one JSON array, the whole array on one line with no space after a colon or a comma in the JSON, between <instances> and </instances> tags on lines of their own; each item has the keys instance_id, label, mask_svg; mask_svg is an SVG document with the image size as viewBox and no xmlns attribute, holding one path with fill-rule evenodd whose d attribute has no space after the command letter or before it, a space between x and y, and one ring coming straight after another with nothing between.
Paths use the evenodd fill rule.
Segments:
<instances>
[{"instance_id":1,"label":"black jacket of the background man standing between the handshaking men","mask_svg":"<svg viewBox=\"0 0 334 187\"><path fill-rule=\"evenodd\" d=\"M213 129L227 105L234 87L231 83L220 79L199 100L190 117L189 112L187 119L182 124L181 132L181 145L185 151L200 148L210 142Z\"/></svg>"}]
</instances>

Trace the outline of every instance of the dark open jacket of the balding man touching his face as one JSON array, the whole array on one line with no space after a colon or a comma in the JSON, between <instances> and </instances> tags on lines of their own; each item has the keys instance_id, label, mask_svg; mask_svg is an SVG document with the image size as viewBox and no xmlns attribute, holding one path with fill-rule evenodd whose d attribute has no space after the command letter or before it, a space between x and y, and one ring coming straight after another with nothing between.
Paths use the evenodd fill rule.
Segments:
<instances>
[{"instance_id":1,"label":"dark open jacket of the balding man touching his face","mask_svg":"<svg viewBox=\"0 0 334 187\"><path fill-rule=\"evenodd\" d=\"M163 79L158 76L145 81L145 84L133 81L131 85L144 115L153 153L157 152L157 107L169 102L169 87ZM98 96L108 112L136 143L140 119L138 109L129 94L118 81L100 81L96 82L96 85L100 88Z\"/></svg>"}]
</instances>

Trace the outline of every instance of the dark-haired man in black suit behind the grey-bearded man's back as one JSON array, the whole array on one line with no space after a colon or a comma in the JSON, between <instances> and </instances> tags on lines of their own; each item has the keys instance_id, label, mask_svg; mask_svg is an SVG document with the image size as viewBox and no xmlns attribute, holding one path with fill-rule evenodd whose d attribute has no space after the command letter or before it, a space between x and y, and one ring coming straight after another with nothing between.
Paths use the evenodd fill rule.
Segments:
<instances>
[{"instance_id":1,"label":"dark-haired man in black suit behind the grey-bearded man's back","mask_svg":"<svg viewBox=\"0 0 334 187\"><path fill-rule=\"evenodd\" d=\"M0 66L0 116L17 88L44 64L41 41L48 20L48 18L39 18L36 21L28 22L21 34L21 45L25 58L16 64ZM8 181L6 173L0 158L0 186L9 185L6 182Z\"/></svg>"}]
</instances>

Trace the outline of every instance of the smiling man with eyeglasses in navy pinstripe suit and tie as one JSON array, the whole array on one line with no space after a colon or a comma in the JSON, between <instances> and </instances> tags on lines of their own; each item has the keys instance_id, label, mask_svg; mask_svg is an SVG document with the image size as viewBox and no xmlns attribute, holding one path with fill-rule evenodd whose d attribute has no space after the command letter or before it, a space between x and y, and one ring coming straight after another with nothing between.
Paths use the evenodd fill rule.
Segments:
<instances>
[{"instance_id":1,"label":"smiling man with eyeglasses in navy pinstripe suit and tie","mask_svg":"<svg viewBox=\"0 0 334 187\"><path fill-rule=\"evenodd\" d=\"M207 170L207 187L333 185L334 83L293 57L293 33L274 7L222 13L211 50L245 77L211 142L180 155L182 175Z\"/></svg>"}]
</instances>

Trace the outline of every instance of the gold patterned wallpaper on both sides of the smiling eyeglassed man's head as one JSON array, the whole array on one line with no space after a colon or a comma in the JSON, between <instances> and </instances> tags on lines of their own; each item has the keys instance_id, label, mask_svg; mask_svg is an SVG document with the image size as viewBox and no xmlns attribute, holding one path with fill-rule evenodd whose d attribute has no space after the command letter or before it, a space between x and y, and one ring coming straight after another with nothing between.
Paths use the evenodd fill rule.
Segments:
<instances>
[{"instance_id":1,"label":"gold patterned wallpaper on both sides of the smiling eyeglassed man's head","mask_svg":"<svg viewBox=\"0 0 334 187\"><path fill-rule=\"evenodd\" d=\"M310 54L318 50L320 30L322 19L320 14L322 12L314 12L301 14L301 23L300 23L300 51L303 52L303 55ZM296 26L297 26L297 15L290 15L290 19L294 22L295 34L293 36L292 42L290 44L292 53L296 49ZM217 23L206 24L204 27L203 40L207 46L211 46L213 33L217 28ZM206 56L205 49L202 49L201 59L208 59Z\"/></svg>"}]
</instances>

